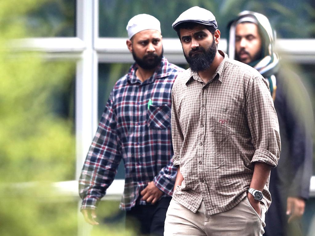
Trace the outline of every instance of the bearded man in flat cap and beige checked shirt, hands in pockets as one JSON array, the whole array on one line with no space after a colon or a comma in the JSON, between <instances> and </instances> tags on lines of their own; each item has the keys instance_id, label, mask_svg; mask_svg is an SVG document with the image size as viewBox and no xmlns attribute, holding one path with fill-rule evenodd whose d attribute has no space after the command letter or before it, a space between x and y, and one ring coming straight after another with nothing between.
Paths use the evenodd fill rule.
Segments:
<instances>
[{"instance_id":1,"label":"bearded man in flat cap and beige checked shirt, hands in pockets","mask_svg":"<svg viewBox=\"0 0 315 236\"><path fill-rule=\"evenodd\" d=\"M257 70L217 50L210 11L190 8L172 26L190 68L172 90L177 177L164 235L262 235L280 154L268 86Z\"/></svg>"}]
</instances>

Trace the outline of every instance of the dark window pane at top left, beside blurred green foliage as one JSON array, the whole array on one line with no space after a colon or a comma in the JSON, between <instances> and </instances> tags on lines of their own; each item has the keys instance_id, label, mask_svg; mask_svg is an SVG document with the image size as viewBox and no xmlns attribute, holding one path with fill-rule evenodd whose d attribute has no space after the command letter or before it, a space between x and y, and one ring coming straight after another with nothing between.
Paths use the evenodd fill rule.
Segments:
<instances>
[{"instance_id":1,"label":"dark window pane at top left, beside blurred green foliage","mask_svg":"<svg viewBox=\"0 0 315 236\"><path fill-rule=\"evenodd\" d=\"M75 37L75 0L54 0L28 11L22 19L28 37Z\"/></svg>"}]
</instances>

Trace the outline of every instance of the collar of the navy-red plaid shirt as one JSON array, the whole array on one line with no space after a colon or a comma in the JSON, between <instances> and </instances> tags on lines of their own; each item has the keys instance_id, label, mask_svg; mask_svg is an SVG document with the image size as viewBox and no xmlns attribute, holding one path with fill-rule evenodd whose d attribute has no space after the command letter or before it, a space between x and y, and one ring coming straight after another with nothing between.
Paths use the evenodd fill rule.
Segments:
<instances>
[{"instance_id":1,"label":"collar of the navy-red plaid shirt","mask_svg":"<svg viewBox=\"0 0 315 236\"><path fill-rule=\"evenodd\" d=\"M141 82L139 79L137 79L136 76L136 70L138 69L138 65L137 63L134 63L128 73L127 73L127 80L130 84L150 84L153 83L154 80L158 79L158 78L163 78L166 76L169 76L169 74L171 73L171 71L168 70L169 68L169 62L165 57L162 57L161 63L160 65L157 66L154 74L148 78L146 81Z\"/></svg>"}]
</instances>

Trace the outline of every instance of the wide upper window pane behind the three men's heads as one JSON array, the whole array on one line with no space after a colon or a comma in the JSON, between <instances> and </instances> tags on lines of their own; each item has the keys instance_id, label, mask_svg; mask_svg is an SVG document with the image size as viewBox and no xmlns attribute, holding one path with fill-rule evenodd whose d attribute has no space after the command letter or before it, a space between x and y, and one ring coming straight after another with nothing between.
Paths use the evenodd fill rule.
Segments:
<instances>
[{"instance_id":1,"label":"wide upper window pane behind the three men's heads","mask_svg":"<svg viewBox=\"0 0 315 236\"><path fill-rule=\"evenodd\" d=\"M163 37L177 37L172 23L186 9L200 6L215 15L221 37L227 38L226 26L239 12L252 10L265 14L281 38L315 36L314 5L311 0L255 1L169 1L169 0L100 0L100 37L127 37L126 26L136 14L151 14L161 22Z\"/></svg>"}]
</instances>

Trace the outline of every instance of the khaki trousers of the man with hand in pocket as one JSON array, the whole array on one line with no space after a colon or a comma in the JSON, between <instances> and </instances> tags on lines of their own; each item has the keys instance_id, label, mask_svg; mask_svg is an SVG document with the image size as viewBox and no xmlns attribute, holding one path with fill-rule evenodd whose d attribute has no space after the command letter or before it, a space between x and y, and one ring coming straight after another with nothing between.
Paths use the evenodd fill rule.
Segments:
<instances>
[{"instance_id":1,"label":"khaki trousers of the man with hand in pocket","mask_svg":"<svg viewBox=\"0 0 315 236\"><path fill-rule=\"evenodd\" d=\"M265 233L265 212L261 203L260 217L247 196L231 210L211 216L205 214L203 201L193 213L172 199L166 212L164 236L261 236Z\"/></svg>"}]
</instances>

